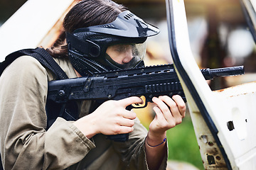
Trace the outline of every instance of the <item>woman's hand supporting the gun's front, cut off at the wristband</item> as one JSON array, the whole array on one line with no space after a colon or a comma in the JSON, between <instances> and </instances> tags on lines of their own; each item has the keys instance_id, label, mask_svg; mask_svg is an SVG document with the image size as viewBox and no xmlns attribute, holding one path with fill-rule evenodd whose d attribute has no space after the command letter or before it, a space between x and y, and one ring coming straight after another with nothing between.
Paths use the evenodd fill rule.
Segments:
<instances>
[{"instance_id":1,"label":"woman's hand supporting the gun's front, cut off at the wristband","mask_svg":"<svg viewBox=\"0 0 256 170\"><path fill-rule=\"evenodd\" d=\"M186 113L186 105L178 95L172 98L169 96L154 97L152 101L156 104L153 108L156 115L149 125L149 134L146 140L149 145L154 146L163 142L166 130L174 128L182 122Z\"/></svg>"}]
</instances>

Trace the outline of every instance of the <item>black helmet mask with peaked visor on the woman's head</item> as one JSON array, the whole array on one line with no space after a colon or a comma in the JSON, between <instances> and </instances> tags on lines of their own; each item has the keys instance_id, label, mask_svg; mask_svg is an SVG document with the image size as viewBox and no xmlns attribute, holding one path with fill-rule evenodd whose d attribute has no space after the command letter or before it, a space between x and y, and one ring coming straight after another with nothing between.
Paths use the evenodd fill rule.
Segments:
<instances>
[{"instance_id":1,"label":"black helmet mask with peaked visor on the woman's head","mask_svg":"<svg viewBox=\"0 0 256 170\"><path fill-rule=\"evenodd\" d=\"M159 29L144 22L130 11L124 11L112 23L79 28L66 33L68 56L75 70L83 77L97 72L144 66L145 41ZM130 45L132 60L119 64L106 54L111 45Z\"/></svg>"}]
</instances>

